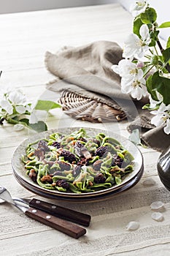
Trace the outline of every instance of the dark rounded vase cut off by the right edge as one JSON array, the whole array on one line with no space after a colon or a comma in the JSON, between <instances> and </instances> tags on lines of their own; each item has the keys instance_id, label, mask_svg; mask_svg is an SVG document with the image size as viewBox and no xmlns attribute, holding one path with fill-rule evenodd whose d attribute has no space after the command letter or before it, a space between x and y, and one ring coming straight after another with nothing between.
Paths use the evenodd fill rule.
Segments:
<instances>
[{"instance_id":1,"label":"dark rounded vase cut off by the right edge","mask_svg":"<svg viewBox=\"0 0 170 256\"><path fill-rule=\"evenodd\" d=\"M159 157L157 167L158 176L166 189L170 191L170 146Z\"/></svg>"}]
</instances>

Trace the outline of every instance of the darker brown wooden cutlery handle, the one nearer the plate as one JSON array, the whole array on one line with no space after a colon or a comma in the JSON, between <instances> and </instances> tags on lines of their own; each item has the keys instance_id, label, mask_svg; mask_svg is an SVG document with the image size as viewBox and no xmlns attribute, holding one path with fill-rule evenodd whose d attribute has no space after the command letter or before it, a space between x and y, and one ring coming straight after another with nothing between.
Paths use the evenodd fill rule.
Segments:
<instances>
[{"instance_id":1,"label":"darker brown wooden cutlery handle, the one nearer the plate","mask_svg":"<svg viewBox=\"0 0 170 256\"><path fill-rule=\"evenodd\" d=\"M75 222L86 227L88 227L90 224L90 219L91 219L90 215L82 214L79 211L74 211L72 209L64 208L62 206L56 206L56 205L53 205L52 203L47 203L42 200L37 200L33 198L30 201L29 206L42 211L46 211L47 213L52 214L55 217L67 219L71 222Z\"/></svg>"}]
</instances>

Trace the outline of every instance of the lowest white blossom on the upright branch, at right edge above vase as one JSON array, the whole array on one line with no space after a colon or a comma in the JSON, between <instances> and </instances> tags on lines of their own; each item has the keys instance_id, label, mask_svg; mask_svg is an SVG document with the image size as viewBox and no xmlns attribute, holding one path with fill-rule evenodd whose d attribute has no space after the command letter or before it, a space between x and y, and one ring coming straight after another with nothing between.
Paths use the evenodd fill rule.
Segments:
<instances>
[{"instance_id":1,"label":"lowest white blossom on the upright branch, at right edge above vase","mask_svg":"<svg viewBox=\"0 0 170 256\"><path fill-rule=\"evenodd\" d=\"M166 106L163 102L161 103L158 110L153 110L153 116L151 119L151 124L154 124L155 127L160 127L163 124L166 124L166 127L163 128L164 132L170 134L170 104Z\"/></svg>"}]
</instances>

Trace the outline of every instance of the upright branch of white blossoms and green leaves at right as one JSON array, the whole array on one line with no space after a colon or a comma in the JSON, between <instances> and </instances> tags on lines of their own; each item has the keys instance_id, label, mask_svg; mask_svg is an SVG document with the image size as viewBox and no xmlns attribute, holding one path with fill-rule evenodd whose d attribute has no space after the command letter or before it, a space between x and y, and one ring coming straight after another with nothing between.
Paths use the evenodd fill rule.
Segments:
<instances>
[{"instance_id":1,"label":"upright branch of white blossoms and green leaves at right","mask_svg":"<svg viewBox=\"0 0 170 256\"><path fill-rule=\"evenodd\" d=\"M125 40L125 59L111 68L120 75L124 94L137 100L149 94L150 104L143 109L152 110L155 116L151 123L156 127L163 125L164 132L170 135L170 46L168 41L163 49L158 39L158 29L170 27L170 22L158 26L157 13L147 0L136 0L131 11L136 18L134 33Z\"/></svg>"}]
</instances>

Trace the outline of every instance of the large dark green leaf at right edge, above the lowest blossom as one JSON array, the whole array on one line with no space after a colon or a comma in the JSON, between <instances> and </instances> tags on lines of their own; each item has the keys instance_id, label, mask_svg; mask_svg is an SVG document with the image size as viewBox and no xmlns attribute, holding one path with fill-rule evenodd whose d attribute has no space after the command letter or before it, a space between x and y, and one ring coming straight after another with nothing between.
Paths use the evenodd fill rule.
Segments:
<instances>
[{"instance_id":1,"label":"large dark green leaf at right edge, above the lowest blossom","mask_svg":"<svg viewBox=\"0 0 170 256\"><path fill-rule=\"evenodd\" d=\"M170 104L170 79L163 78L158 72L152 75L152 89L155 89L163 96L163 102Z\"/></svg>"}]
</instances>

